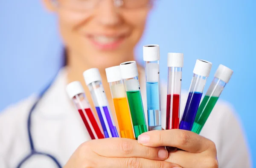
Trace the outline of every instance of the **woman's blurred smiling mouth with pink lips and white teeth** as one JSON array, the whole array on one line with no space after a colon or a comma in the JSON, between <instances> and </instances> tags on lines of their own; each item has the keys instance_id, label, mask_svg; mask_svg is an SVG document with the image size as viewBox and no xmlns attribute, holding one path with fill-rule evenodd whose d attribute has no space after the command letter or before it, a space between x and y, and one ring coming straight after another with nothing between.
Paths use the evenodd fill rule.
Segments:
<instances>
[{"instance_id":1,"label":"woman's blurred smiling mouth with pink lips and white teeth","mask_svg":"<svg viewBox=\"0 0 256 168\"><path fill-rule=\"evenodd\" d=\"M100 50L117 49L126 38L125 35L88 35L87 37L93 43L93 46Z\"/></svg>"}]
</instances>

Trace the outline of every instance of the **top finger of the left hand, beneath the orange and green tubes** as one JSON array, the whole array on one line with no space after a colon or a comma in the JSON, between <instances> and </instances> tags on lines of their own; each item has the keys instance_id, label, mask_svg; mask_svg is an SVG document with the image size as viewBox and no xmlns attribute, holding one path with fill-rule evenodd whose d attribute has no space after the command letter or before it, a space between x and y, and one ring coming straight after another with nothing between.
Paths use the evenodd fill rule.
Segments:
<instances>
[{"instance_id":1,"label":"top finger of the left hand, beneath the orange and green tubes","mask_svg":"<svg viewBox=\"0 0 256 168\"><path fill-rule=\"evenodd\" d=\"M90 141L89 144L96 154L105 157L141 157L146 159L164 160L168 152L164 147L153 148L138 144L137 140L126 138L108 138Z\"/></svg>"}]
</instances>

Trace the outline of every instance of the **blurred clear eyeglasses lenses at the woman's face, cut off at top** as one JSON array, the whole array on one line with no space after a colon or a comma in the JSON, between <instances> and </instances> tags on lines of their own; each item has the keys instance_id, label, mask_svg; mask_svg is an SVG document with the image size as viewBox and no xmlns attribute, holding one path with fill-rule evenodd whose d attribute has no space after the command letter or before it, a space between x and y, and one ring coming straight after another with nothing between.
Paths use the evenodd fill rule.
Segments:
<instances>
[{"instance_id":1,"label":"blurred clear eyeglasses lenses at the woman's face, cut off at top","mask_svg":"<svg viewBox=\"0 0 256 168\"><path fill-rule=\"evenodd\" d=\"M113 0L116 7L123 9L137 9L150 6L153 0ZM57 6L79 11L95 9L102 0L52 0Z\"/></svg>"}]
</instances>

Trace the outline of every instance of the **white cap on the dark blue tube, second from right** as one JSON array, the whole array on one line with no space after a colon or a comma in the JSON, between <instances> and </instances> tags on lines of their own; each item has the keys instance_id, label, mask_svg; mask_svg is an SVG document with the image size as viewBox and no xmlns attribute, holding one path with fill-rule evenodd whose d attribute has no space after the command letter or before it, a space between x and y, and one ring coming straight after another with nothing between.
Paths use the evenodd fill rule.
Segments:
<instances>
[{"instance_id":1,"label":"white cap on the dark blue tube, second from right","mask_svg":"<svg viewBox=\"0 0 256 168\"><path fill-rule=\"evenodd\" d=\"M208 77L211 72L211 68L212 68L211 62L197 59L193 73L195 73L196 75Z\"/></svg>"}]
</instances>

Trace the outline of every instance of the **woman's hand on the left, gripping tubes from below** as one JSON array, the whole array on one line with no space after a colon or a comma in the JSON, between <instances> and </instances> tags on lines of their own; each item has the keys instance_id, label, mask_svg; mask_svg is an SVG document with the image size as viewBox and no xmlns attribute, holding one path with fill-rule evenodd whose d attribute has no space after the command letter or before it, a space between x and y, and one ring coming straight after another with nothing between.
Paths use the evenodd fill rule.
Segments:
<instances>
[{"instance_id":1,"label":"woman's hand on the left, gripping tubes from below","mask_svg":"<svg viewBox=\"0 0 256 168\"><path fill-rule=\"evenodd\" d=\"M95 139L76 149L64 168L175 168L163 147L146 147L126 138Z\"/></svg>"}]
</instances>

